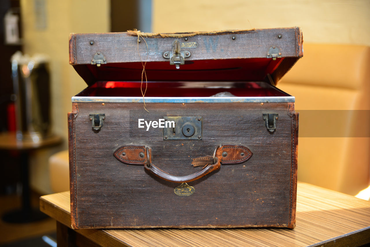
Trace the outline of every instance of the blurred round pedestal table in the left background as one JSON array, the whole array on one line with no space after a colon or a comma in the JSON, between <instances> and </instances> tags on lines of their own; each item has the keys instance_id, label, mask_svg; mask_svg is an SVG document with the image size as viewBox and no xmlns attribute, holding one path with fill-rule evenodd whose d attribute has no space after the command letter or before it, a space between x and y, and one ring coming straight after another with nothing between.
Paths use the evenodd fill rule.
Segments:
<instances>
[{"instance_id":1,"label":"blurred round pedestal table in the left background","mask_svg":"<svg viewBox=\"0 0 370 247\"><path fill-rule=\"evenodd\" d=\"M22 181L21 208L4 214L2 217L3 221L11 223L26 223L41 220L47 217L46 214L41 213L38 208L31 207L30 180L28 170L29 156L31 151L57 146L61 144L61 142L62 138L56 135L50 135L40 138L37 141L33 141L31 139L17 140L16 133L14 132L0 133L0 150L19 152Z\"/></svg>"}]
</instances>

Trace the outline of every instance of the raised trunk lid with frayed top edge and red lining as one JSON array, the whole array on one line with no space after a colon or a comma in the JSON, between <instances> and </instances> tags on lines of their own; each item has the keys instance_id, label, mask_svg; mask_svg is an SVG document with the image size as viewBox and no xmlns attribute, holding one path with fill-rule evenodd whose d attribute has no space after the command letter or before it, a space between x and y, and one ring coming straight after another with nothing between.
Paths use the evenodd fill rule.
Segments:
<instances>
[{"instance_id":1,"label":"raised trunk lid with frayed top edge and red lining","mask_svg":"<svg viewBox=\"0 0 370 247\"><path fill-rule=\"evenodd\" d=\"M195 33L70 35L70 64L96 81L267 81L276 84L303 56L299 27ZM145 80L145 77L144 77Z\"/></svg>"}]
</instances>

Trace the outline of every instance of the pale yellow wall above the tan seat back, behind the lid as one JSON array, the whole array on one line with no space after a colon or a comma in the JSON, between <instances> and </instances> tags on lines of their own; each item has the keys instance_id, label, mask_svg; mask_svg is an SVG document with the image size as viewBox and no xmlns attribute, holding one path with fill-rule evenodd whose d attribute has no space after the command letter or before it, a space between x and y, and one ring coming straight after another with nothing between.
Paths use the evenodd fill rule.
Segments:
<instances>
[{"instance_id":1,"label":"pale yellow wall above the tan seat back, behind the lid","mask_svg":"<svg viewBox=\"0 0 370 247\"><path fill-rule=\"evenodd\" d=\"M306 42L370 45L369 0L153 0L152 16L153 32L299 26Z\"/></svg>"}]
</instances>

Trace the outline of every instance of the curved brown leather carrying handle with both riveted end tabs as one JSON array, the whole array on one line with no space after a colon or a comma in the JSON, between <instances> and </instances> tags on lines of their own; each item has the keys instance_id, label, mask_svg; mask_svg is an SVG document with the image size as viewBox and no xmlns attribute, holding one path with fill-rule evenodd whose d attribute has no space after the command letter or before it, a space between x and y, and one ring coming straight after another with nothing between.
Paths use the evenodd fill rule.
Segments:
<instances>
[{"instance_id":1,"label":"curved brown leather carrying handle with both riveted end tabs","mask_svg":"<svg viewBox=\"0 0 370 247\"><path fill-rule=\"evenodd\" d=\"M192 165L203 166L199 171L187 176L174 176L152 164L151 148L139 145L126 145L114 152L114 157L125 164L144 165L155 176L174 183L186 183L204 177L218 170L221 164L239 164L249 160L252 152L240 144L221 144L215 148L213 156L194 158Z\"/></svg>"}]
</instances>

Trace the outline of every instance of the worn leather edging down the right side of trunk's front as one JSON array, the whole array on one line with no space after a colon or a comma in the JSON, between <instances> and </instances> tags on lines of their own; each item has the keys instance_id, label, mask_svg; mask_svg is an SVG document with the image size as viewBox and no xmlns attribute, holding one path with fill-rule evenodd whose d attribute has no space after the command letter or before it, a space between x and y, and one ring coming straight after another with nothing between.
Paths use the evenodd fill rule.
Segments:
<instances>
[{"instance_id":1,"label":"worn leather edging down the right side of trunk's front","mask_svg":"<svg viewBox=\"0 0 370 247\"><path fill-rule=\"evenodd\" d=\"M289 228L294 228L296 226L298 123L299 113L292 113L292 166L290 170L290 214L288 223Z\"/></svg>"}]
</instances>

